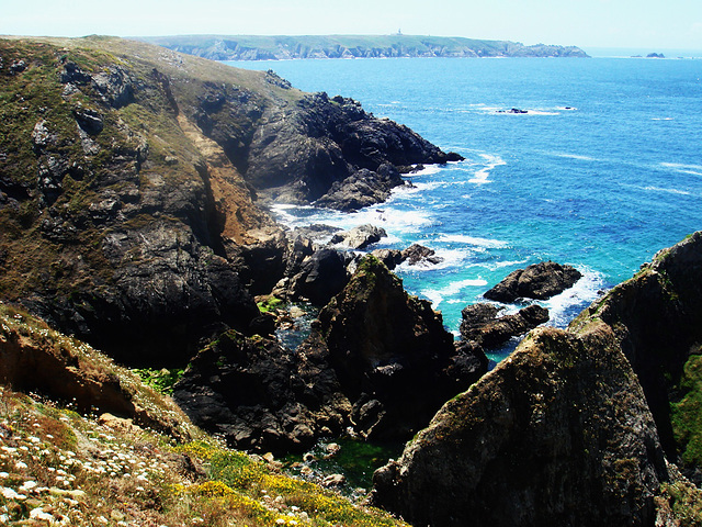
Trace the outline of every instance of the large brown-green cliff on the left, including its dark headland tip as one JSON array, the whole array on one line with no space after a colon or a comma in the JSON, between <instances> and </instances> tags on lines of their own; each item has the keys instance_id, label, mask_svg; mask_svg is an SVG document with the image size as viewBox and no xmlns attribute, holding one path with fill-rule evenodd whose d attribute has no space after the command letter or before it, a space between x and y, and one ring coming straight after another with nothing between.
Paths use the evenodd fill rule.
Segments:
<instances>
[{"instance_id":1,"label":"large brown-green cliff on the left, including its dark headland tip","mask_svg":"<svg viewBox=\"0 0 702 527\"><path fill-rule=\"evenodd\" d=\"M454 158L349 99L144 43L2 40L0 78L0 298L123 361L257 332L249 291L284 270L263 198L384 199L398 168Z\"/></svg>"}]
</instances>

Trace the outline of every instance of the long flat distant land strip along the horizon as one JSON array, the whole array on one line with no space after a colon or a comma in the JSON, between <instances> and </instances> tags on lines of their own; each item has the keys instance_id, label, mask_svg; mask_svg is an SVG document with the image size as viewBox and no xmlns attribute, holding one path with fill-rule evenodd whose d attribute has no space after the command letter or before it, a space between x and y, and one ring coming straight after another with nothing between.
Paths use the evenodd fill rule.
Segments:
<instances>
[{"instance_id":1,"label":"long flat distant land strip along the horizon","mask_svg":"<svg viewBox=\"0 0 702 527\"><path fill-rule=\"evenodd\" d=\"M395 57L587 57L575 46L416 35L178 35L144 42L213 60Z\"/></svg>"}]
</instances>

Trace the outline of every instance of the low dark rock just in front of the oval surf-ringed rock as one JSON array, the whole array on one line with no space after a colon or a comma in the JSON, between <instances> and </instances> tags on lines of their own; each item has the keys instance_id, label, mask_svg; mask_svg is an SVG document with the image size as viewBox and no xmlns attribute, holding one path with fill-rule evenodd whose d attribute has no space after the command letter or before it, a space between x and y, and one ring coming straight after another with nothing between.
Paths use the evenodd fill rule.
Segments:
<instances>
[{"instance_id":1,"label":"low dark rock just in front of the oval surf-ringed rock","mask_svg":"<svg viewBox=\"0 0 702 527\"><path fill-rule=\"evenodd\" d=\"M461 337L484 348L496 348L510 338L524 335L534 327L548 322L548 310L530 305L513 315L498 317L501 311L492 304L478 303L465 307L461 315Z\"/></svg>"}]
</instances>

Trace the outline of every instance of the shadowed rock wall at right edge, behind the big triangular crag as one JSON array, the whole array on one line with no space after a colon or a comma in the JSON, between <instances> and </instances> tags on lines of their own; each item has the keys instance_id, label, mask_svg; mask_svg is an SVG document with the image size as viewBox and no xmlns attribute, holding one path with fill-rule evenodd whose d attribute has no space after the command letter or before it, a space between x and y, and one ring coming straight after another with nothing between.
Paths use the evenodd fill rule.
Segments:
<instances>
[{"instance_id":1,"label":"shadowed rock wall at right edge, behind the big triangular crag","mask_svg":"<svg viewBox=\"0 0 702 527\"><path fill-rule=\"evenodd\" d=\"M702 483L702 433L693 403L702 343L702 233L658 253L631 280L592 304L570 327L610 325L636 372L671 461Z\"/></svg>"}]
</instances>

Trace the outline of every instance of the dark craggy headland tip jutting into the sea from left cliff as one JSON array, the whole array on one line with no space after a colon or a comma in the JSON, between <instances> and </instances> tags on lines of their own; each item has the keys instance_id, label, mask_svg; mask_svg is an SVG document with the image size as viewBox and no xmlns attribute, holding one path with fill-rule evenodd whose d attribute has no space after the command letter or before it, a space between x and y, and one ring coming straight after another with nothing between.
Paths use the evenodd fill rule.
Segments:
<instances>
[{"instance_id":1,"label":"dark craggy headland tip jutting into the sea from left cliff","mask_svg":"<svg viewBox=\"0 0 702 527\"><path fill-rule=\"evenodd\" d=\"M342 211L385 201L404 184L396 167L462 159L352 99L326 93L269 112L248 141L246 152L230 157L261 199Z\"/></svg>"}]
</instances>

